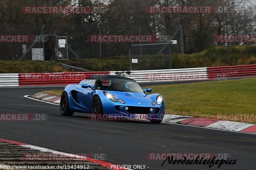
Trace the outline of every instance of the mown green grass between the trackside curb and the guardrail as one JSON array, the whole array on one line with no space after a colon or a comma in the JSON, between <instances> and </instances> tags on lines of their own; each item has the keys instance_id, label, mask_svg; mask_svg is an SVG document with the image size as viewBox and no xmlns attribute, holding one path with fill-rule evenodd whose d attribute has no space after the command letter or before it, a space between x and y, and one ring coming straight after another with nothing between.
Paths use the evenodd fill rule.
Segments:
<instances>
[{"instance_id":1,"label":"mown green grass between the trackside curb and the guardrail","mask_svg":"<svg viewBox=\"0 0 256 170\"><path fill-rule=\"evenodd\" d=\"M179 85L151 86L165 101L165 113L201 118L214 118L216 114L255 115L256 78L225 81L209 81ZM44 91L60 96L61 90ZM256 124L250 120L231 119L230 121Z\"/></svg>"}]
</instances>

